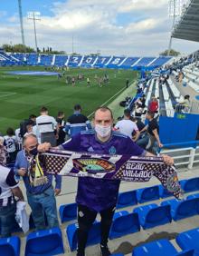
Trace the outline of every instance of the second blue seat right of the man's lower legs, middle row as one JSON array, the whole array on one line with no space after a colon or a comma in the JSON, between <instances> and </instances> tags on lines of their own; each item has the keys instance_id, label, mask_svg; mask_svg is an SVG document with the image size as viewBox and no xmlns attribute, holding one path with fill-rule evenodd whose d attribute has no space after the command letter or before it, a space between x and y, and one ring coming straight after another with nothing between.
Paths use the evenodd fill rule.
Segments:
<instances>
[{"instance_id":1,"label":"second blue seat right of the man's lower legs, middle row","mask_svg":"<svg viewBox=\"0 0 199 256\"><path fill-rule=\"evenodd\" d=\"M134 209L144 230L172 222L170 206L158 206L156 203L140 206Z\"/></svg>"}]
</instances>

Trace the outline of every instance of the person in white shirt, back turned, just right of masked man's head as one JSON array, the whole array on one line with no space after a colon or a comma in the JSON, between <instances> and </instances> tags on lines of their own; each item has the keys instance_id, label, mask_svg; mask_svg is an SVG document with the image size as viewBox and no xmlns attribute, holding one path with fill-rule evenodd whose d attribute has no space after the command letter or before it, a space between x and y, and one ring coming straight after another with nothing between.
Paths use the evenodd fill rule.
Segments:
<instances>
[{"instance_id":1,"label":"person in white shirt, back turned, just right of masked man's head","mask_svg":"<svg viewBox=\"0 0 199 256\"><path fill-rule=\"evenodd\" d=\"M118 123L116 123L114 129L116 131L118 131L119 133L123 133L123 134L127 135L131 139L132 139L132 134L135 133L134 141L136 142L139 137L139 130L137 128L136 123L131 121L130 117L131 117L130 111L128 109L126 109L124 111L124 119L118 121Z\"/></svg>"}]
</instances>

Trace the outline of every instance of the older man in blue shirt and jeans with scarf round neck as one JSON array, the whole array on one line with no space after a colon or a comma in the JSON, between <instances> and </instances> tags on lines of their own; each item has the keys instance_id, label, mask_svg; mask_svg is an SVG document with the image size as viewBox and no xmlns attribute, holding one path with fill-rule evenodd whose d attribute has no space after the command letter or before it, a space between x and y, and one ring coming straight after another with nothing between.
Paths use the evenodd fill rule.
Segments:
<instances>
[{"instance_id":1,"label":"older man in blue shirt and jeans with scarf round neck","mask_svg":"<svg viewBox=\"0 0 199 256\"><path fill-rule=\"evenodd\" d=\"M24 150L16 156L14 172L16 177L22 176L27 193L27 200L32 209L36 230L45 229L44 213L48 227L59 225L55 195L61 192L62 177L55 176L55 189L52 187L52 174L43 173L37 154L37 138L34 134L24 137ZM38 167L39 166L39 167Z\"/></svg>"}]
</instances>

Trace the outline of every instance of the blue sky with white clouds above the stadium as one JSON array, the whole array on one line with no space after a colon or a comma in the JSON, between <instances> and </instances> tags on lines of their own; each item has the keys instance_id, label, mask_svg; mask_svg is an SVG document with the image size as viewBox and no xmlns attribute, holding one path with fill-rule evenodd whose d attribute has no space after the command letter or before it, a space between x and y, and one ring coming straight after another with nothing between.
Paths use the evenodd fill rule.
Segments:
<instances>
[{"instance_id":1,"label":"blue sky with white clouds above the stadium","mask_svg":"<svg viewBox=\"0 0 199 256\"><path fill-rule=\"evenodd\" d=\"M25 44L34 47L33 21L27 13L41 13L36 22L38 46L71 53L151 56L168 47L171 18L168 0L21 0ZM18 0L0 0L0 45L22 42ZM174 39L183 54L199 44Z\"/></svg>"}]
</instances>

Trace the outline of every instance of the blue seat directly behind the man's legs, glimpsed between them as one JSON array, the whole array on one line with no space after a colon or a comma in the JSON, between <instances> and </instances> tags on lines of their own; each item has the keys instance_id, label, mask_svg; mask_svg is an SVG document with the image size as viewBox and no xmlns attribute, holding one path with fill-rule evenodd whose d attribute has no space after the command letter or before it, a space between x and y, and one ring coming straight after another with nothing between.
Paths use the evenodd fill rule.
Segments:
<instances>
[{"instance_id":1,"label":"blue seat directly behind the man's legs, glimpsed between them","mask_svg":"<svg viewBox=\"0 0 199 256\"><path fill-rule=\"evenodd\" d=\"M69 241L71 251L77 249L77 231L78 223L68 225L66 228L66 234ZM87 246L100 243L100 222L94 222L88 236Z\"/></svg>"}]
</instances>

